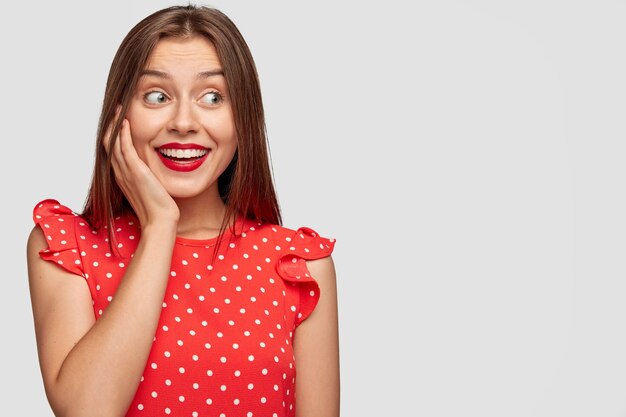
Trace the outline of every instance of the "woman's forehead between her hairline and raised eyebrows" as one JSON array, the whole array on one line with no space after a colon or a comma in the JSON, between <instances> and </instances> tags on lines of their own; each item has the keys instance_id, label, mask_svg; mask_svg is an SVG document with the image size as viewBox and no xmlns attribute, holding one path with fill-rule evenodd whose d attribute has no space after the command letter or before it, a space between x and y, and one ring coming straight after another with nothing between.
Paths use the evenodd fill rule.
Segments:
<instances>
[{"instance_id":1,"label":"woman's forehead between her hairline and raised eyebrows","mask_svg":"<svg viewBox=\"0 0 626 417\"><path fill-rule=\"evenodd\" d=\"M215 70L221 68L215 46L202 36L163 38L148 57L146 68L184 68Z\"/></svg>"}]
</instances>

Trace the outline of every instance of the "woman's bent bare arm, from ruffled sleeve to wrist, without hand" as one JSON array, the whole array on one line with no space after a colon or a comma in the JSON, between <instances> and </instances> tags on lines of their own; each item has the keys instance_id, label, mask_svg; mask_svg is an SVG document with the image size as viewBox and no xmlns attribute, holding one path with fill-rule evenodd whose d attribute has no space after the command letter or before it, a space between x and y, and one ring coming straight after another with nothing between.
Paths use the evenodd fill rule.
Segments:
<instances>
[{"instance_id":1,"label":"woman's bent bare arm, from ruffled sleeve to wrist, without hand","mask_svg":"<svg viewBox=\"0 0 626 417\"><path fill-rule=\"evenodd\" d=\"M57 417L123 416L152 346L169 276L175 226L142 231L115 297L96 321L89 289L39 257L47 247L35 227L28 276L44 387Z\"/></svg>"}]
</instances>

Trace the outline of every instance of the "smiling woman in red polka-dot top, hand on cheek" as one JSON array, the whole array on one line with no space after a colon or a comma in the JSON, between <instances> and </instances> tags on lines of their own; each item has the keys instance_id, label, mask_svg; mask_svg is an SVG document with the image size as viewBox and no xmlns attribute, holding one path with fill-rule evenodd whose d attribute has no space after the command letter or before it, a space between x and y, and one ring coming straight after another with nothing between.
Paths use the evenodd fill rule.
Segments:
<instances>
[{"instance_id":1,"label":"smiling woman in red polka-dot top, hand on cheek","mask_svg":"<svg viewBox=\"0 0 626 417\"><path fill-rule=\"evenodd\" d=\"M195 6L139 22L96 146L83 213L40 202L28 241L55 415L337 416L334 241L280 226L234 24Z\"/></svg>"}]
</instances>

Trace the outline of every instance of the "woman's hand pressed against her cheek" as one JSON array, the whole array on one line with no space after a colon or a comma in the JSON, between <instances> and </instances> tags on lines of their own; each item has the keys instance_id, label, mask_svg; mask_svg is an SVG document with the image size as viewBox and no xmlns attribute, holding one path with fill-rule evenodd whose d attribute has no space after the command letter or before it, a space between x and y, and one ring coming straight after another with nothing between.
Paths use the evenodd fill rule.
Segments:
<instances>
[{"instance_id":1,"label":"woman's hand pressed against her cheek","mask_svg":"<svg viewBox=\"0 0 626 417\"><path fill-rule=\"evenodd\" d=\"M119 109L104 137L104 147L107 150L117 117L119 117ZM117 184L135 211L141 226L176 225L180 216L178 206L150 168L137 155L127 119L122 121L122 127L111 152L113 153L111 163Z\"/></svg>"}]
</instances>

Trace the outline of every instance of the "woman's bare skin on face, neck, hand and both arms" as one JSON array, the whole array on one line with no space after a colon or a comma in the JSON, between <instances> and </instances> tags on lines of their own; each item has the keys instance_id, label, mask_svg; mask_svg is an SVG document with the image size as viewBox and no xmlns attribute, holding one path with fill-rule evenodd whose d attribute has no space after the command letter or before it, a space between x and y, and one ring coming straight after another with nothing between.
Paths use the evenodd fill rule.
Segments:
<instances>
[{"instance_id":1,"label":"woman's bare skin on face, neck, hand and both arms","mask_svg":"<svg viewBox=\"0 0 626 417\"><path fill-rule=\"evenodd\" d=\"M140 221L141 240L115 297L97 321L84 280L39 257L47 243L38 227L28 240L39 361L48 400L58 417L126 414L152 346L175 238L214 237L225 212L217 178L236 149L232 112L223 77L197 77L219 69L214 48L203 38L164 39L149 67L170 77L167 82L146 77L140 83L112 158L116 181ZM151 89L162 90L168 100L158 105L146 101ZM207 105L206 94L215 91L225 100ZM205 171L184 176L160 165L154 149L172 140L210 147L213 159L202 168ZM330 257L307 264L320 285L321 298L294 336L297 416L335 417L339 415L335 271Z\"/></svg>"}]
</instances>

